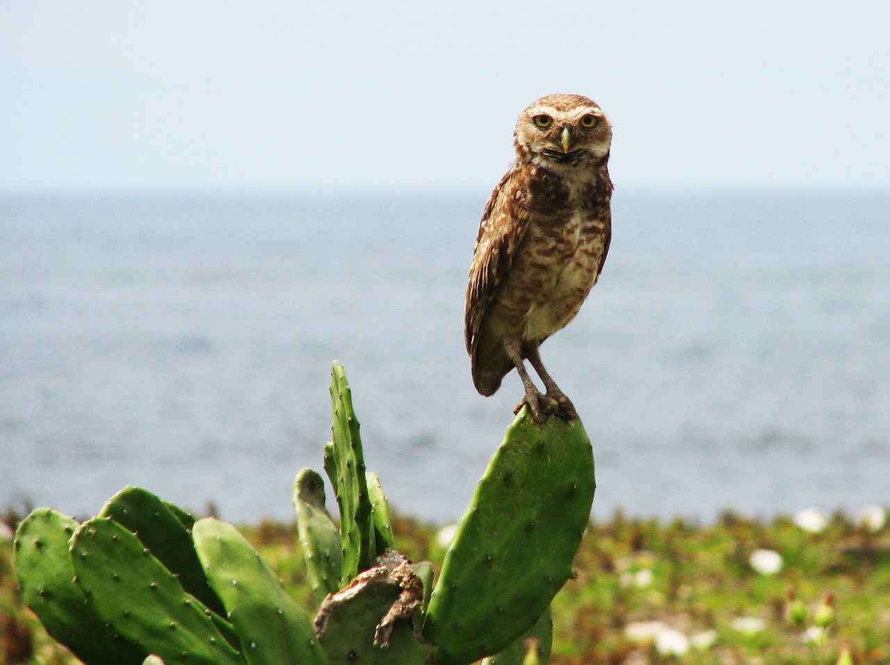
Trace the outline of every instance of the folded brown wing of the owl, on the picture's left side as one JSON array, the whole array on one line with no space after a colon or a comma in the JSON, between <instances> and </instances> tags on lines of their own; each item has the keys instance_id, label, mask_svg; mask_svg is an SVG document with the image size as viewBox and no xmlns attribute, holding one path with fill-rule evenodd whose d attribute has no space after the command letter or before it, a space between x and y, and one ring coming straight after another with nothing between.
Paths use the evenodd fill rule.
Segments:
<instances>
[{"instance_id":1,"label":"folded brown wing of the owl, on the picture's left side","mask_svg":"<svg viewBox=\"0 0 890 665\"><path fill-rule=\"evenodd\" d=\"M498 285L510 270L528 228L528 212L517 204L518 167L506 172L482 212L470 279L466 288L465 342L471 357Z\"/></svg>"}]
</instances>

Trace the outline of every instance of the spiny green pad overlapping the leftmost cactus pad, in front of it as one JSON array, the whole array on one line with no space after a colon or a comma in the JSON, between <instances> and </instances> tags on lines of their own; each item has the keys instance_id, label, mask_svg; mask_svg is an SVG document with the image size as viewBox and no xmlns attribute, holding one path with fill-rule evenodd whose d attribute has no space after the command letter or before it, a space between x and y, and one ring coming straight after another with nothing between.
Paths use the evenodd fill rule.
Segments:
<instances>
[{"instance_id":1,"label":"spiny green pad overlapping the leftmost cactus pad, in front of it","mask_svg":"<svg viewBox=\"0 0 890 665\"><path fill-rule=\"evenodd\" d=\"M211 612L114 520L93 517L81 525L71 561L96 612L143 654L157 654L166 665L244 665Z\"/></svg>"}]
</instances>

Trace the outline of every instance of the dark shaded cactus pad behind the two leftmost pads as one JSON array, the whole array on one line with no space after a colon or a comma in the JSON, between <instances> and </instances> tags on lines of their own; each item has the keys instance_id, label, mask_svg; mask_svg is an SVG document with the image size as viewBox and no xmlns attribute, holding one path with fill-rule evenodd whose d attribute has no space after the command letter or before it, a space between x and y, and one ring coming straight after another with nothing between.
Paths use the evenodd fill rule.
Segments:
<instances>
[{"instance_id":1,"label":"dark shaded cactus pad behind the two leftmost pads","mask_svg":"<svg viewBox=\"0 0 890 665\"><path fill-rule=\"evenodd\" d=\"M165 501L142 487L129 486L105 502L98 517L110 517L139 536L142 545L210 610L223 614L223 603L210 588L189 529Z\"/></svg>"}]
</instances>

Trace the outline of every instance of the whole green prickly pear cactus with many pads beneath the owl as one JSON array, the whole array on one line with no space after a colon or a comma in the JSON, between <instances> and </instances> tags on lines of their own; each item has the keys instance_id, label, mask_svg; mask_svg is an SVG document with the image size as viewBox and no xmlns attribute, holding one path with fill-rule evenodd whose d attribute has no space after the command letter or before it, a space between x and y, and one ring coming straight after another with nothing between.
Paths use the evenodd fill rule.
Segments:
<instances>
[{"instance_id":1,"label":"whole green prickly pear cactus with many pads beneath the owl","mask_svg":"<svg viewBox=\"0 0 890 665\"><path fill-rule=\"evenodd\" d=\"M433 586L392 547L389 505L364 466L341 365L324 481L293 487L315 621L231 525L126 487L83 525L37 509L16 533L25 602L87 665L546 665L549 606L571 574L595 490L580 421L523 410L477 485ZM223 618L225 617L225 618Z\"/></svg>"}]
</instances>

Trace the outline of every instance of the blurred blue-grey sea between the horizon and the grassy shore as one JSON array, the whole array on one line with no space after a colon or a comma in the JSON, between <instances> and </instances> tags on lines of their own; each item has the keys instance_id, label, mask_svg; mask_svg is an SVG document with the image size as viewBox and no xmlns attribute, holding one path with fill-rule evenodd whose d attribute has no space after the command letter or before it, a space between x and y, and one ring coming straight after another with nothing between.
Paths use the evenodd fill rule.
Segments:
<instances>
[{"instance_id":1,"label":"blurred blue-grey sea between the horizon and the grassy shore","mask_svg":"<svg viewBox=\"0 0 890 665\"><path fill-rule=\"evenodd\" d=\"M397 510L459 517L522 396L473 389L485 195L0 198L0 506L143 485L291 516L331 361ZM603 277L544 360L595 517L890 503L890 196L617 191Z\"/></svg>"}]
</instances>

